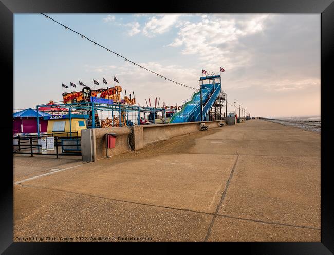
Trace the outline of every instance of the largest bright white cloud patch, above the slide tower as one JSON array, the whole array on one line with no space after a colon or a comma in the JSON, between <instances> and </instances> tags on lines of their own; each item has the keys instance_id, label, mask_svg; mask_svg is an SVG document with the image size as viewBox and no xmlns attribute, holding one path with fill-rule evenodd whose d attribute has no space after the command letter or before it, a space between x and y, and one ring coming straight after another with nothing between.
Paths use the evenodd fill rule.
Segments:
<instances>
[{"instance_id":1,"label":"largest bright white cloud patch, above the slide tower","mask_svg":"<svg viewBox=\"0 0 334 255\"><path fill-rule=\"evenodd\" d=\"M214 68L217 62L228 65L230 69L243 66L250 60L245 51L242 56L233 56L233 49L240 37L264 30L269 15L248 15L248 19L239 20L232 15L201 15L195 23L184 22L180 25L177 38L168 46L184 46L181 54L197 54L208 68ZM225 46L225 47L221 47Z\"/></svg>"}]
</instances>

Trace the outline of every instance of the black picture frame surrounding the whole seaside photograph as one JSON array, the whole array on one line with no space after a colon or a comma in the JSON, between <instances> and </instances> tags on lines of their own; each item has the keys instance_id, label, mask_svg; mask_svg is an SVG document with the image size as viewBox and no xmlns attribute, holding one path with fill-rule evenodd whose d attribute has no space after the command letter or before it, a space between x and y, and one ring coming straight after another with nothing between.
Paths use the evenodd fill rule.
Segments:
<instances>
[{"instance_id":1,"label":"black picture frame surrounding the whole seaside photograph","mask_svg":"<svg viewBox=\"0 0 334 255\"><path fill-rule=\"evenodd\" d=\"M321 108L322 108L322 135L321 135L321 242L319 243L211 243L197 245L208 251L208 246L216 246L221 251L232 249L233 253L240 251L247 254L332 254L334 253L334 210L333 210L333 184L331 179L331 149L333 134L330 126L331 108L326 106L330 102L329 88L333 86L330 62L334 59L334 3L333 0L183 0L158 5L157 3L133 2L125 4L122 1L87 0L75 1L45 1L45 0L1 0L0 2L0 52L3 62L2 78L6 78L3 87L7 89L13 84L13 14L14 13L321 13ZM307 54L307 52L306 52ZM3 79L2 79L3 80ZM3 80L4 81L4 80ZM6 95L3 95L6 97ZM16 243L13 242L13 167L12 154L12 98L10 94L3 98L2 131L3 166L0 204L0 252L3 254L64 254L69 253L96 253L101 246L114 251L115 243ZM8 108L8 109L7 109ZM6 124L4 124L6 123ZM88 249L94 252L89 252ZM136 245L137 244L132 244ZM147 244L145 244L146 247ZM154 244L149 244L154 245ZM180 246L187 244L181 243ZM166 246L166 244L164 245ZM113 247L112 249L110 249ZM124 245L122 245L122 248ZM146 247L147 248L147 247ZM158 248L158 247L155 247ZM84 250L84 252L80 251ZM157 251L157 250L156 250Z\"/></svg>"}]
</instances>

